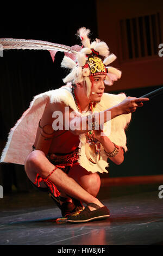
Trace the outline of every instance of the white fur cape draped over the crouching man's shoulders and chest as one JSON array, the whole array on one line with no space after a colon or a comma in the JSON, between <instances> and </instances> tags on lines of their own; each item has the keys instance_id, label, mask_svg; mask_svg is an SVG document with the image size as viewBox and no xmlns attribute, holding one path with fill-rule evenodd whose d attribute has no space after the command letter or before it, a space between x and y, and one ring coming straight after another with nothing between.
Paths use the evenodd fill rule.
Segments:
<instances>
[{"instance_id":1,"label":"white fur cape draped over the crouching man's shoulders and chest","mask_svg":"<svg viewBox=\"0 0 163 256\"><path fill-rule=\"evenodd\" d=\"M97 103L95 111L103 111L111 106L117 105L126 97L125 94L106 94L104 93L100 103ZM10 130L8 136L8 142L1 155L0 162L24 164L27 155L32 151L32 145L35 141L37 126L39 120L42 117L45 105L48 98L51 103L64 101L67 106L70 106L74 111L77 111L76 104L71 94L71 86L63 86L56 90L50 90L46 93L36 95L33 101L30 103L29 108L25 111L22 117L17 121L15 126ZM79 112L78 112L79 113ZM80 114L80 113L79 113ZM120 145L127 151L126 147L126 134L125 128L130 122L131 115L120 115L111 120L111 133L108 136L112 142ZM98 164L92 164L87 160L85 151L85 136L80 136L81 155L79 157L79 163L88 171L91 172L107 172L105 167L106 156L102 150L101 160Z\"/></svg>"}]
</instances>

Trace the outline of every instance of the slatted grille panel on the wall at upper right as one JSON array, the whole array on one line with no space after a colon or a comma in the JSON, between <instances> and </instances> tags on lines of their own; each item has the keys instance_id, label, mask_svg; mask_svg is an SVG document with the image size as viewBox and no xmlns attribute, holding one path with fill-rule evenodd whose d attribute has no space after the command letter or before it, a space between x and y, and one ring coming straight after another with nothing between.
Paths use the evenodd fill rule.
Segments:
<instances>
[{"instance_id":1,"label":"slatted grille panel on the wall at upper right","mask_svg":"<svg viewBox=\"0 0 163 256\"><path fill-rule=\"evenodd\" d=\"M158 55L159 13L121 20L120 29L123 61Z\"/></svg>"}]
</instances>

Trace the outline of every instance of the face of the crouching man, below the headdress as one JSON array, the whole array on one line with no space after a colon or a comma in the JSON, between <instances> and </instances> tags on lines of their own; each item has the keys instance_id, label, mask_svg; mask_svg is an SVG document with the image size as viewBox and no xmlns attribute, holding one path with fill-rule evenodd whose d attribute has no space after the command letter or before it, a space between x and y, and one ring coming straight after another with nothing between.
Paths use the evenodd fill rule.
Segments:
<instances>
[{"instance_id":1,"label":"face of the crouching man, below the headdress","mask_svg":"<svg viewBox=\"0 0 163 256\"><path fill-rule=\"evenodd\" d=\"M101 97L103 95L104 89L105 89L105 75L98 75L92 77L93 79L93 86L91 88L91 93L90 93L90 100L94 102L100 102Z\"/></svg>"}]
</instances>

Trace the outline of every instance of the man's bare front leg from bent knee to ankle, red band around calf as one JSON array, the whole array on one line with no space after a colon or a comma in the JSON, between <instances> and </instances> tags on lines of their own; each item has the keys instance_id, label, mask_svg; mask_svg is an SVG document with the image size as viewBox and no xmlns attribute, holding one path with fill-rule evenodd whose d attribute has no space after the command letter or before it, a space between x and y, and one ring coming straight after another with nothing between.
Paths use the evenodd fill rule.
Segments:
<instances>
[{"instance_id":1,"label":"man's bare front leg from bent knee to ankle, red band around calf","mask_svg":"<svg viewBox=\"0 0 163 256\"><path fill-rule=\"evenodd\" d=\"M40 150L35 150L30 153L26 159L25 170L28 178L34 182L36 174L42 178L46 178L54 169L54 165L48 161L45 154ZM60 191L74 197L86 204L95 203L100 207L104 205L90 193L84 190L73 178L65 174L61 169L57 168L55 172L49 176L49 181L52 181ZM95 210L90 207L90 210Z\"/></svg>"}]
</instances>

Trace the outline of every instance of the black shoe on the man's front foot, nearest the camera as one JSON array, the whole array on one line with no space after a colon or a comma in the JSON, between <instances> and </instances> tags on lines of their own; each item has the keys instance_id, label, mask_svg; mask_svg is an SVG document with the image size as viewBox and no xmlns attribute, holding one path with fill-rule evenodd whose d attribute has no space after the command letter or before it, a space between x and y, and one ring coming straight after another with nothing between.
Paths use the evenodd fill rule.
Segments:
<instances>
[{"instance_id":1,"label":"black shoe on the man's front foot, nearest the camera","mask_svg":"<svg viewBox=\"0 0 163 256\"><path fill-rule=\"evenodd\" d=\"M95 208L95 211L90 211L87 206L92 206ZM66 222L77 223L77 222L88 222L94 220L104 220L105 218L110 217L110 212L106 206L99 207L97 204L90 203L79 215L71 215L67 217Z\"/></svg>"}]
</instances>

